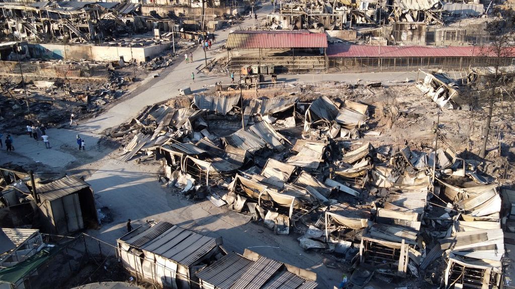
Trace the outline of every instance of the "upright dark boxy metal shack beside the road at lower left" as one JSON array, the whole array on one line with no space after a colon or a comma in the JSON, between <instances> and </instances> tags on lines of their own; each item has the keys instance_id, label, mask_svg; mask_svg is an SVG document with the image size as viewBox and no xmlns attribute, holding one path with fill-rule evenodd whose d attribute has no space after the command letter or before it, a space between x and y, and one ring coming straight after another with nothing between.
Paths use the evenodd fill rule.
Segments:
<instances>
[{"instance_id":1,"label":"upright dark boxy metal shack beside the road at lower left","mask_svg":"<svg viewBox=\"0 0 515 289\"><path fill-rule=\"evenodd\" d=\"M36 191L46 231L66 234L98 226L93 190L84 180L66 176Z\"/></svg>"}]
</instances>

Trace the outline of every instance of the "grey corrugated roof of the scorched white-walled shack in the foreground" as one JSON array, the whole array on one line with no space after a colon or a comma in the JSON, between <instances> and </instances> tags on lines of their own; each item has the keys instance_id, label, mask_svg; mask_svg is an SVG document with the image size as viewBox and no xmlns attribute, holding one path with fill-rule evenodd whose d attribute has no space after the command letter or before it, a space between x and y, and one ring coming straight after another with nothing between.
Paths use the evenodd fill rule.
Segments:
<instances>
[{"instance_id":1,"label":"grey corrugated roof of the scorched white-walled shack in the foreground","mask_svg":"<svg viewBox=\"0 0 515 289\"><path fill-rule=\"evenodd\" d=\"M217 246L216 239L159 222L126 242L184 266L190 266Z\"/></svg>"}]
</instances>

